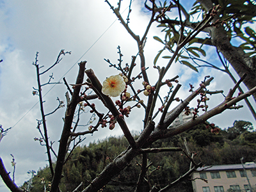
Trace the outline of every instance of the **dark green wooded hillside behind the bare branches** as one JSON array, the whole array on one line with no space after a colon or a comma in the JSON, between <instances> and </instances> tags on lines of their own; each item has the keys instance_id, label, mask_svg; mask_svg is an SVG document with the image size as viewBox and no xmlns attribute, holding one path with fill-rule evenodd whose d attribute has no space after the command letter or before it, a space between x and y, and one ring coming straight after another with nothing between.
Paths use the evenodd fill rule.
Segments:
<instances>
[{"instance_id":1,"label":"dark green wooded hillside behind the bare branches","mask_svg":"<svg viewBox=\"0 0 256 192\"><path fill-rule=\"evenodd\" d=\"M85 188L102 172L105 166L118 154L129 147L124 136L109 137L106 140L78 146L63 168L60 184L61 191L74 191L77 186ZM256 160L256 132L252 123L242 120L235 121L232 127L212 133L205 125L197 125L179 136L158 140L150 148L180 147L186 152L195 154L195 161L205 165L239 164L241 157L244 162ZM122 155L122 154L121 154ZM134 191L140 174L141 156L134 158L129 166L102 188L102 191ZM157 186L176 180L186 173L190 160L182 152L161 152L148 155L147 182ZM32 171L31 179L24 182L22 188L28 191L47 191L51 186L51 171L48 167ZM148 185L145 184L145 191ZM170 191L193 191L191 180L179 182ZM79 191L79 189L77 189Z\"/></svg>"}]
</instances>

